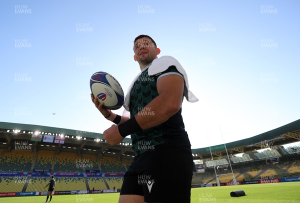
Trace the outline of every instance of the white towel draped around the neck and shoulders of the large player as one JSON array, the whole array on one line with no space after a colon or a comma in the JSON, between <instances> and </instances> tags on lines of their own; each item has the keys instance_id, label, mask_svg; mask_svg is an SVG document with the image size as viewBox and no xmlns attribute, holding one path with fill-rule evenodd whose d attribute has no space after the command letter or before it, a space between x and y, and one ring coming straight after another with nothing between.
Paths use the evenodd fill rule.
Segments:
<instances>
[{"instance_id":1,"label":"white towel draped around the neck and shoulders of the large player","mask_svg":"<svg viewBox=\"0 0 300 203\"><path fill-rule=\"evenodd\" d=\"M164 70L166 70L171 65L174 65L176 67L176 69L183 75L183 78L185 81L183 95L185 96L186 100L189 102L198 101L197 97L190 90L188 90L188 81L187 81L186 72L183 69L183 67L181 66L181 64L174 57L165 55L165 56L161 56L159 58L155 58L148 68L148 74L149 75L158 74L159 72L163 72ZM124 100L124 104L123 104L125 110L127 110L127 111L129 110L130 91L133 87L135 80L137 79L137 77L139 75L140 75L140 72L135 76L135 78L133 79L133 81L130 83L130 85L128 87L128 91L125 96L125 100Z\"/></svg>"}]
</instances>

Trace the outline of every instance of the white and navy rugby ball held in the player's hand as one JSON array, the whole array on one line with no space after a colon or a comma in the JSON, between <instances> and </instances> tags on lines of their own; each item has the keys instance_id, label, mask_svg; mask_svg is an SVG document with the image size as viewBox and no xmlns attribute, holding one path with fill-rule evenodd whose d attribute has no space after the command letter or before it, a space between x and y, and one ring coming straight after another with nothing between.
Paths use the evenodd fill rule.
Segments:
<instances>
[{"instance_id":1,"label":"white and navy rugby ball held in the player's hand","mask_svg":"<svg viewBox=\"0 0 300 203\"><path fill-rule=\"evenodd\" d=\"M119 109L124 103L124 92L118 81L107 72L95 72L91 75L89 86L98 102L103 102L105 108Z\"/></svg>"}]
</instances>

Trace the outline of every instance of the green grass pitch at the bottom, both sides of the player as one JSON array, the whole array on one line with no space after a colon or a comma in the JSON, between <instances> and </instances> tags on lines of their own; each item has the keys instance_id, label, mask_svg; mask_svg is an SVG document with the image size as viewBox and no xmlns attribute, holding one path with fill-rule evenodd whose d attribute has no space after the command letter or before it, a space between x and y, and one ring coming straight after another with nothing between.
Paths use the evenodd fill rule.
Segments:
<instances>
[{"instance_id":1,"label":"green grass pitch at the bottom, both sides of the player","mask_svg":"<svg viewBox=\"0 0 300 203\"><path fill-rule=\"evenodd\" d=\"M230 197L230 191L234 190L244 190L246 196ZM53 195L51 202L115 203L118 201L118 196L119 193ZM0 202L41 203L45 199L46 196L0 197ZM190 202L300 202L300 182L192 188Z\"/></svg>"}]
</instances>

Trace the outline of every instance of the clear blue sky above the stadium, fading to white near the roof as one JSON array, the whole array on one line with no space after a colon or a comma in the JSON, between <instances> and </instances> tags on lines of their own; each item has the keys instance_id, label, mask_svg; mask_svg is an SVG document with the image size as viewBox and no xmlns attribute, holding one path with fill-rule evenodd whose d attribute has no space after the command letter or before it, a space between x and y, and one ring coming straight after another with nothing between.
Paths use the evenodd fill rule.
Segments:
<instances>
[{"instance_id":1,"label":"clear blue sky above the stadium, fading to white near the roof","mask_svg":"<svg viewBox=\"0 0 300 203\"><path fill-rule=\"evenodd\" d=\"M299 4L1 1L0 121L102 133L111 123L89 99L89 78L108 72L126 91L139 71L133 39L148 34L199 98L182 104L192 148L287 124L300 118Z\"/></svg>"}]
</instances>

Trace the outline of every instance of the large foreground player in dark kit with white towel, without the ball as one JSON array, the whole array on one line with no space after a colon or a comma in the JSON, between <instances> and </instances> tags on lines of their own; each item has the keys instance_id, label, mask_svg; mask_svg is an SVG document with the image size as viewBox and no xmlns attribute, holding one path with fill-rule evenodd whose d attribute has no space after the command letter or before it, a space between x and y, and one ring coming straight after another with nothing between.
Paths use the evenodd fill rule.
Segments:
<instances>
[{"instance_id":1,"label":"large foreground player in dark kit with white towel, without the ball","mask_svg":"<svg viewBox=\"0 0 300 203\"><path fill-rule=\"evenodd\" d=\"M124 175L119 203L190 202L193 160L181 104L183 96L190 102L198 99L188 90L180 63L171 56L158 58L160 49L150 36L141 34L133 43L140 72L123 104L130 118L104 108L91 94L97 109L116 124L103 132L104 139L116 145L131 135L135 156Z\"/></svg>"}]
</instances>

